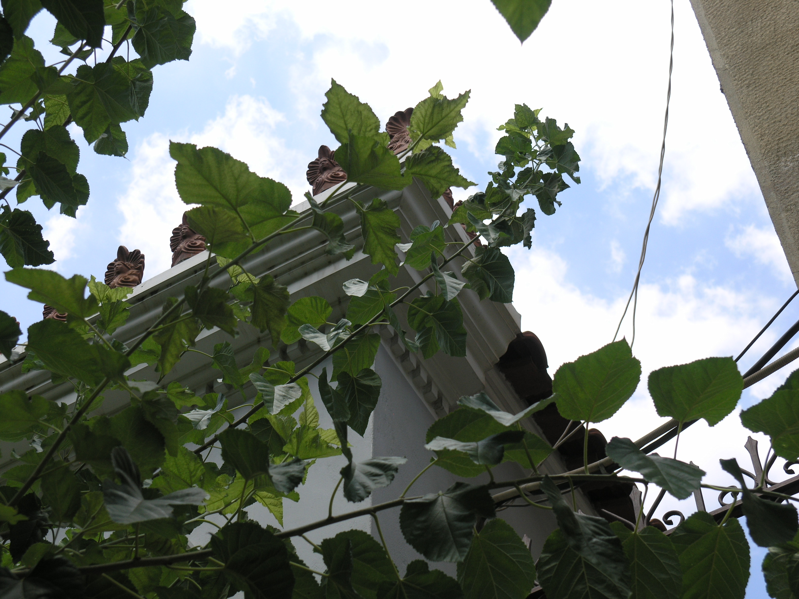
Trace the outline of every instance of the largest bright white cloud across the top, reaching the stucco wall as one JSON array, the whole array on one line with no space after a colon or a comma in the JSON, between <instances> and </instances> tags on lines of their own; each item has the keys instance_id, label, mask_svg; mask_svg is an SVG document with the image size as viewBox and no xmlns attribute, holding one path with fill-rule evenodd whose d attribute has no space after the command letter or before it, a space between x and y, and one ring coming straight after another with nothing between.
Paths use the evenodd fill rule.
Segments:
<instances>
[{"instance_id":1,"label":"largest bright white cloud across the top, reaching the stucco wall","mask_svg":"<svg viewBox=\"0 0 799 599\"><path fill-rule=\"evenodd\" d=\"M694 210L759 197L690 3L675 4L660 208L668 224ZM234 50L280 35L272 29L277 19L296 26L310 50L288 66L289 85L296 109L320 132L318 105L330 77L368 101L382 120L415 105L440 78L450 95L472 91L455 138L478 157L493 152L500 135L495 128L511 116L514 103L527 102L570 123L583 164L604 184L622 179L654 188L666 103L667 3L626 0L614 10L592 0L555 3L523 46L485 0L464 0L456 11L447 2L408 0L401 14L391 2L250 2L225 16L222 26L202 16L209 6L216 15L213 2L193 4L200 38ZM446 23L446 30L414 40L400 25L404 14L424 14L426 22ZM566 31L580 42L565 42Z\"/></svg>"}]
</instances>

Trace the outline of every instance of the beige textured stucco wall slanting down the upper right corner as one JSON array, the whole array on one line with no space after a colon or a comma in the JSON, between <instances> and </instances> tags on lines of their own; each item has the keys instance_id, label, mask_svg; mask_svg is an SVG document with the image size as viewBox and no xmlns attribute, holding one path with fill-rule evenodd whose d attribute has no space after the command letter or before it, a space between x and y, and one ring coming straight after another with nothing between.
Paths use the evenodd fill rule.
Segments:
<instances>
[{"instance_id":1,"label":"beige textured stucco wall slanting down the upper right corner","mask_svg":"<svg viewBox=\"0 0 799 599\"><path fill-rule=\"evenodd\" d=\"M799 0L691 0L799 284Z\"/></svg>"}]
</instances>

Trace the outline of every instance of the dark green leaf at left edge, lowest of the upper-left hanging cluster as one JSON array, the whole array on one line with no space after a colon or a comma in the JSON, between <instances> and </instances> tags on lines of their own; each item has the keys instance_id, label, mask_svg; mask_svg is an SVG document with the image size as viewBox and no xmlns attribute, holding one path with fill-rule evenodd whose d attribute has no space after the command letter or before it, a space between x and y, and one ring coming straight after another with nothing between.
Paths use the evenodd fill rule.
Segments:
<instances>
[{"instance_id":1,"label":"dark green leaf at left edge, lowest of the upper-left hanging cluster","mask_svg":"<svg viewBox=\"0 0 799 599\"><path fill-rule=\"evenodd\" d=\"M0 214L0 253L11 268L53 264L50 241L42 237L42 225L26 210L3 207Z\"/></svg>"}]
</instances>

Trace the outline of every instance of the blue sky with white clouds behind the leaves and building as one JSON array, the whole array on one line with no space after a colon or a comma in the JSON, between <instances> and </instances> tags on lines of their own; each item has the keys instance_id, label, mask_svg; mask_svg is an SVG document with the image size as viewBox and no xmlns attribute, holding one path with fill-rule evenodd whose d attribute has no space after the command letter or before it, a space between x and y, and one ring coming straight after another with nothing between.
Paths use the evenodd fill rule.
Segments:
<instances>
[{"instance_id":1,"label":"blue sky with white clouds behind the leaves and building","mask_svg":"<svg viewBox=\"0 0 799 599\"><path fill-rule=\"evenodd\" d=\"M187 3L197 18L193 56L155 69L147 114L123 125L127 159L94 154L73 131L81 146L78 171L91 186L77 220L47 212L38 198L24 205L45 224L59 272L101 278L118 244L145 252L145 278L169 268L169 234L185 209L174 189L169 139L221 147L260 175L288 184L299 201L308 188L308 161L319 145L334 145L319 117L331 77L368 101L381 121L415 105L441 79L450 96L472 90L451 153L479 185L495 169L495 129L515 103L543 107L543 115L577 132L582 184L562 193L555 216L539 213L531 250L508 252L517 269L515 307L523 328L547 347L553 374L610 341L638 264L657 177L666 0L612 6L555 0L523 46L489 0L235 4L235 12L221 14L216 2ZM674 363L737 355L796 288L690 4L676 0L675 8L663 192L634 346L644 377ZM32 37L49 39L53 26L40 15ZM16 148L22 133L4 141ZM474 191L458 190L455 197ZM41 318L40 304L26 300L22 289L2 281L0 298L0 308L24 327ZM741 360L742 369L797 318L799 302ZM629 320L622 331L629 338ZM745 391L742 407L767 397L787 374ZM599 428L608 438L638 438L658 422L642 385ZM686 431L680 455L729 484L718 458L745 459L747 434L737 414L712 429L698 424ZM757 438L765 451L765 438ZM710 507L715 499L706 501ZM665 502L664 509L684 503ZM765 597L759 574L754 580L760 582L748 597Z\"/></svg>"}]
</instances>

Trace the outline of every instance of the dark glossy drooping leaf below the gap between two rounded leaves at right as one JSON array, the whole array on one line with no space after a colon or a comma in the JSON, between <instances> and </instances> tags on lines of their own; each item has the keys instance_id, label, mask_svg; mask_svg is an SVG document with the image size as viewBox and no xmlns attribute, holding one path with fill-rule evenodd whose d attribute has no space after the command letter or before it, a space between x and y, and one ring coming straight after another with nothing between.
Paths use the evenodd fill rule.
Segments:
<instances>
[{"instance_id":1,"label":"dark glossy drooping leaf below the gap between two rounded leaves at right","mask_svg":"<svg viewBox=\"0 0 799 599\"><path fill-rule=\"evenodd\" d=\"M629 438L614 437L605 447L606 454L625 470L640 472L649 482L669 491L678 499L687 499L699 489L705 471L692 464L658 454L646 455Z\"/></svg>"}]
</instances>

